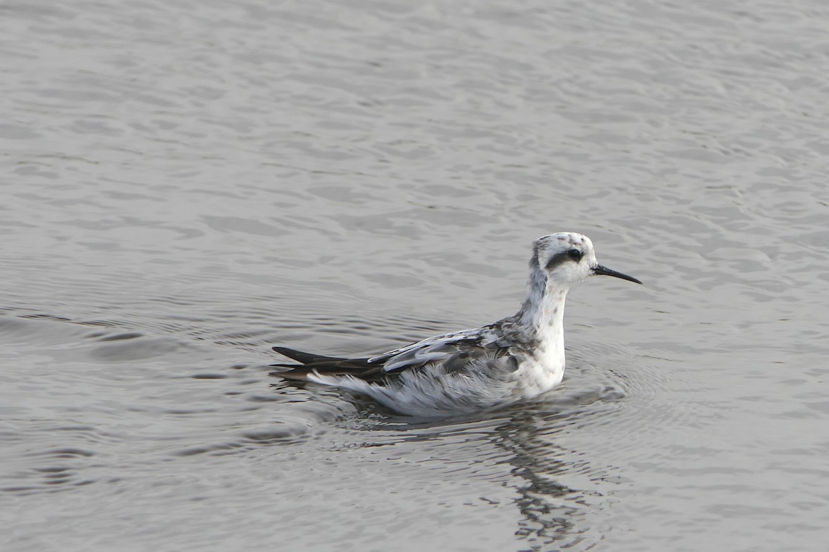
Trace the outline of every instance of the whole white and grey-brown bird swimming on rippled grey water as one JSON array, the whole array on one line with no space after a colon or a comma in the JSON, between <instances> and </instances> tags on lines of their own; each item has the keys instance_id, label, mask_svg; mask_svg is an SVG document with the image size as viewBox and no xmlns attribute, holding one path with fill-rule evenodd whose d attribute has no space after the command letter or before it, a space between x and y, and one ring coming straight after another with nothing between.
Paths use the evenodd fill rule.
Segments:
<instances>
[{"instance_id":1,"label":"whole white and grey-brown bird swimming on rippled grey water","mask_svg":"<svg viewBox=\"0 0 829 552\"><path fill-rule=\"evenodd\" d=\"M591 276L633 276L596 261L580 233L532 242L526 300L506 318L475 329L425 338L366 358L329 357L274 347L297 363L272 364L285 380L334 386L368 396L403 415L467 415L550 391L565 372L565 299Z\"/></svg>"}]
</instances>

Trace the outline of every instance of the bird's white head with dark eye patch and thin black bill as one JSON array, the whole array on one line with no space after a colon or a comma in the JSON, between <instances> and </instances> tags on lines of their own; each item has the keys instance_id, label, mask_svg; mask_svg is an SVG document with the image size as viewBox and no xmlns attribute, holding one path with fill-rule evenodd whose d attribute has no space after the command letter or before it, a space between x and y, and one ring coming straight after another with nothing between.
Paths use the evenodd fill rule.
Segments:
<instances>
[{"instance_id":1,"label":"bird's white head with dark eye patch and thin black bill","mask_svg":"<svg viewBox=\"0 0 829 552\"><path fill-rule=\"evenodd\" d=\"M612 271L596 261L593 242L579 233L560 232L541 236L532 242L531 266L537 266L547 276L547 282L569 288L587 280L588 276L615 276L641 284L632 276Z\"/></svg>"}]
</instances>

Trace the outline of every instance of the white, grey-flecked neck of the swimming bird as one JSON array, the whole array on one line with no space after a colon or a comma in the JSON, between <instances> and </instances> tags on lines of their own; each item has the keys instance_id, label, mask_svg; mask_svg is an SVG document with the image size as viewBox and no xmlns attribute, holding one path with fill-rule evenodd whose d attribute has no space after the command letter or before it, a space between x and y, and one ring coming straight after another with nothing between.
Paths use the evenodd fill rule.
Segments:
<instances>
[{"instance_id":1,"label":"white, grey-flecked neck of the swimming bird","mask_svg":"<svg viewBox=\"0 0 829 552\"><path fill-rule=\"evenodd\" d=\"M526 300L515 315L521 333L534 341L547 354L564 359L565 299L569 288L555 286L537 266L530 272Z\"/></svg>"}]
</instances>

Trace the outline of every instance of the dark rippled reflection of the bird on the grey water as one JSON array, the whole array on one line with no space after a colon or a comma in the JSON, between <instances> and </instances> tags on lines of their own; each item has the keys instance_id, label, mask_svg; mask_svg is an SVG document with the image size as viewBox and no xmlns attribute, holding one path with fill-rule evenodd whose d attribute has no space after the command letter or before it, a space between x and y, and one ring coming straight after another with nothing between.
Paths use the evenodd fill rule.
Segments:
<instances>
[{"instance_id":1,"label":"dark rippled reflection of the bird on the grey water","mask_svg":"<svg viewBox=\"0 0 829 552\"><path fill-rule=\"evenodd\" d=\"M378 439L374 446L436 441L457 448L462 443L472 447L473 454L495 458L504 468L498 477L516 492L513 503L520 516L515 535L528 545L521 550L542 550L553 543L570 547L601 539L594 534L591 514L606 506L607 491L600 483L613 468L594 466L588 454L558 442L572 430L589 431L590 418L607 408L604 401L596 401L599 398L536 402L490 413L490 418L480 415L438 423L384 416L373 407L374 419L363 429L390 438ZM469 463L470 477L475 477L476 465Z\"/></svg>"}]
</instances>

